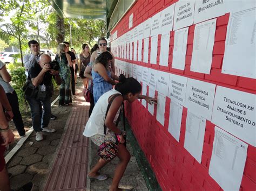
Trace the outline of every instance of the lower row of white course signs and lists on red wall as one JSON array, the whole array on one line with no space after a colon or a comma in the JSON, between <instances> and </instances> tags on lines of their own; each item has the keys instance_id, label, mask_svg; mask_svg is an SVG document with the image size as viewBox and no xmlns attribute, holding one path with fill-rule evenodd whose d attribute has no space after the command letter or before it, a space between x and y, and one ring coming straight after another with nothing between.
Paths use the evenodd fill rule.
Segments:
<instances>
[{"instance_id":1,"label":"lower row of white course signs and lists on red wall","mask_svg":"<svg viewBox=\"0 0 256 191\"><path fill-rule=\"evenodd\" d=\"M241 140L256 146L256 95L118 59L116 71L118 75L123 73L142 82L143 95L154 97L155 90L158 91L156 118L163 126L166 96L171 98L168 131L177 142L183 107L188 109L184 147L199 163L206 120L220 127L215 127L209 174L224 190L239 190L248 147ZM142 104L146 108L144 100ZM154 107L154 104L147 104L151 115L154 115Z\"/></svg>"}]
</instances>

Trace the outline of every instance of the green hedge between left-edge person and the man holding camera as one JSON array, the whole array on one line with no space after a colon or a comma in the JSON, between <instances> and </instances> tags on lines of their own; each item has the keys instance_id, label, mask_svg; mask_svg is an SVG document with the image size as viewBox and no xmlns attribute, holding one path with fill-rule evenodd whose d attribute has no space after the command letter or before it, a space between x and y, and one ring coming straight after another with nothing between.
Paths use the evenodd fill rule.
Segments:
<instances>
[{"instance_id":1,"label":"green hedge between left-edge person and the man holding camera","mask_svg":"<svg viewBox=\"0 0 256 191\"><path fill-rule=\"evenodd\" d=\"M19 109L21 111L28 110L28 104L26 103L24 92L22 90L22 87L25 84L26 81L26 75L25 75L25 68L24 67L15 67L14 64L8 65L8 68L10 69L10 75L11 75L11 85L15 89L18 100L19 100Z\"/></svg>"}]
</instances>

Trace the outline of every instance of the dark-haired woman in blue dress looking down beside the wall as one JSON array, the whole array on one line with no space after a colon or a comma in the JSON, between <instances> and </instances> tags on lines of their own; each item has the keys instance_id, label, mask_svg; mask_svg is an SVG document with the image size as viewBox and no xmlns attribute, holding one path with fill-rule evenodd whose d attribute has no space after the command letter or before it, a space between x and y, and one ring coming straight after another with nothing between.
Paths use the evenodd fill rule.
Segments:
<instances>
[{"instance_id":1,"label":"dark-haired woman in blue dress looking down beside the wall","mask_svg":"<svg viewBox=\"0 0 256 191\"><path fill-rule=\"evenodd\" d=\"M113 56L109 52L100 54L92 65L93 98L96 102L99 97L113 88L118 76L111 72L110 62Z\"/></svg>"}]
</instances>

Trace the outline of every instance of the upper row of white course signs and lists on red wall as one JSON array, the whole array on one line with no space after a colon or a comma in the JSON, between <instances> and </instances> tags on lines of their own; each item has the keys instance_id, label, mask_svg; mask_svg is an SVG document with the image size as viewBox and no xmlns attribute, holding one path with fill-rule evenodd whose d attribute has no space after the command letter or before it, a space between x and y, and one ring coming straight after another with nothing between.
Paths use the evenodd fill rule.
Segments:
<instances>
[{"instance_id":1,"label":"upper row of white course signs and lists on red wall","mask_svg":"<svg viewBox=\"0 0 256 191\"><path fill-rule=\"evenodd\" d=\"M178 1L118 38L117 31L114 32L112 52L117 58L145 63L149 63L150 56L150 63L157 64L158 34L161 34L159 65L168 66L170 31L175 30L172 68L184 70L188 26L196 24L190 70L210 74L217 24L215 17L230 12L221 72L256 79L255 11L255 1L251 0L246 3Z\"/></svg>"}]
</instances>

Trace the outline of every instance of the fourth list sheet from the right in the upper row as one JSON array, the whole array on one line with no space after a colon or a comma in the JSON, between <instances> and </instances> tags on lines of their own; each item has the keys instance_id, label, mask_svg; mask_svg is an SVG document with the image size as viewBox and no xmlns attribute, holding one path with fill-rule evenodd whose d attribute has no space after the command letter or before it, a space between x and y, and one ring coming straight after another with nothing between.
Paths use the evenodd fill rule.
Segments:
<instances>
[{"instance_id":1,"label":"fourth list sheet from the right in the upper row","mask_svg":"<svg viewBox=\"0 0 256 191\"><path fill-rule=\"evenodd\" d=\"M161 35L161 45L160 45L160 66L168 66L169 59L169 45L170 45L170 33Z\"/></svg>"}]
</instances>

